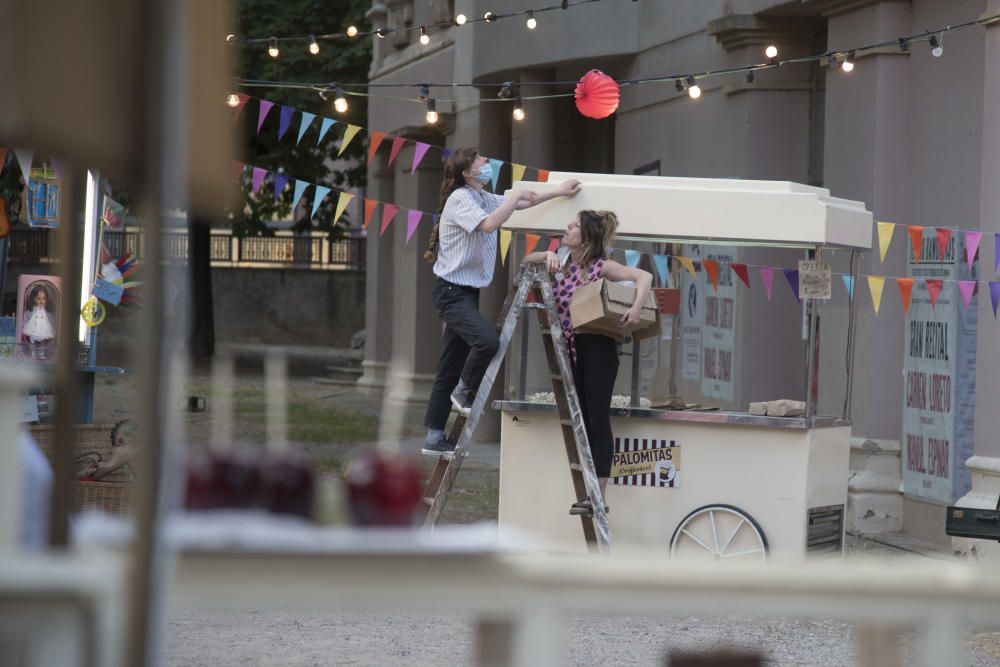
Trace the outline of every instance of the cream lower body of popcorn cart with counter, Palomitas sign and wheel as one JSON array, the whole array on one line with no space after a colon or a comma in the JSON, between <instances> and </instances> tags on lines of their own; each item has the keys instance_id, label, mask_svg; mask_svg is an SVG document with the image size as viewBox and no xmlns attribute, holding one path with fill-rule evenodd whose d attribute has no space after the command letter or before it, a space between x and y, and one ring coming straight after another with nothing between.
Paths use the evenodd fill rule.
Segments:
<instances>
[{"instance_id":1,"label":"cream lower body of popcorn cart with counter, Palomitas sign and wheel","mask_svg":"<svg viewBox=\"0 0 1000 667\"><path fill-rule=\"evenodd\" d=\"M554 404L497 401L499 523L583 551ZM839 555L850 423L831 417L611 408L614 546L693 559Z\"/></svg>"}]
</instances>

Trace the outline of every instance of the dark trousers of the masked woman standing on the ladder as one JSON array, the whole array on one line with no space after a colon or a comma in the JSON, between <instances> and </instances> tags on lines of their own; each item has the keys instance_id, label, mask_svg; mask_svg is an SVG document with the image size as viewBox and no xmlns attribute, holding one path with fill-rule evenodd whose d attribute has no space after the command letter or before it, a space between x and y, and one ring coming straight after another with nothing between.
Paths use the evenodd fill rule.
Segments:
<instances>
[{"instance_id":1,"label":"dark trousers of the masked woman standing on the ladder","mask_svg":"<svg viewBox=\"0 0 1000 667\"><path fill-rule=\"evenodd\" d=\"M451 412L451 392L459 379L473 391L478 389L499 341L493 325L479 314L477 288L454 285L438 278L431 301L445 328L424 425L444 429Z\"/></svg>"}]
</instances>

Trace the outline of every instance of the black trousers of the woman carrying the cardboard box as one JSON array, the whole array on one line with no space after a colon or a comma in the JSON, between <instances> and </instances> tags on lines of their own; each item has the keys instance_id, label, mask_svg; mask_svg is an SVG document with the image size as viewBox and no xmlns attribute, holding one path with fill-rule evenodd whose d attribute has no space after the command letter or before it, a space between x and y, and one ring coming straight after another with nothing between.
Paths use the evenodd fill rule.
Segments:
<instances>
[{"instance_id":1,"label":"black trousers of the woman carrying the cardboard box","mask_svg":"<svg viewBox=\"0 0 1000 667\"><path fill-rule=\"evenodd\" d=\"M611 476L611 457L615 451L615 439L611 435L611 396L617 376L618 343L600 334L577 334L573 384L580 399L598 477Z\"/></svg>"}]
</instances>

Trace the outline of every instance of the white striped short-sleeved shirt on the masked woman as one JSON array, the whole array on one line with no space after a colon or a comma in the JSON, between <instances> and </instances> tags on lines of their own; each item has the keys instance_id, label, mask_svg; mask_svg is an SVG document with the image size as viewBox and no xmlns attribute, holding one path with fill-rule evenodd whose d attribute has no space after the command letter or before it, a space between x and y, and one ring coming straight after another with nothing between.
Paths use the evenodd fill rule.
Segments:
<instances>
[{"instance_id":1,"label":"white striped short-sleeved shirt on the masked woman","mask_svg":"<svg viewBox=\"0 0 1000 667\"><path fill-rule=\"evenodd\" d=\"M490 192L476 192L467 185L451 193L441 211L434 275L468 287L490 284L497 258L497 233L476 228L500 208L503 199Z\"/></svg>"}]
</instances>

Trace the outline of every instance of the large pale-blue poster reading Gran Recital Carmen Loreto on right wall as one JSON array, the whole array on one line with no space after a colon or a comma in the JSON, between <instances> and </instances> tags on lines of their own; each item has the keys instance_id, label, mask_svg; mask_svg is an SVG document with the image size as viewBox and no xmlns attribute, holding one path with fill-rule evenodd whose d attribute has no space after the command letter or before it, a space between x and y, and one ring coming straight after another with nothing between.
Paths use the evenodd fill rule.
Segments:
<instances>
[{"instance_id":1,"label":"large pale-blue poster reading Gran Recital Carmen Loreto on right wall","mask_svg":"<svg viewBox=\"0 0 1000 667\"><path fill-rule=\"evenodd\" d=\"M907 262L914 281L904 329L903 491L947 504L971 483L978 296L965 309L955 283L944 282L932 304L925 281L974 280L964 245L952 235L942 260L935 230L925 229L920 261L911 247Z\"/></svg>"}]
</instances>

